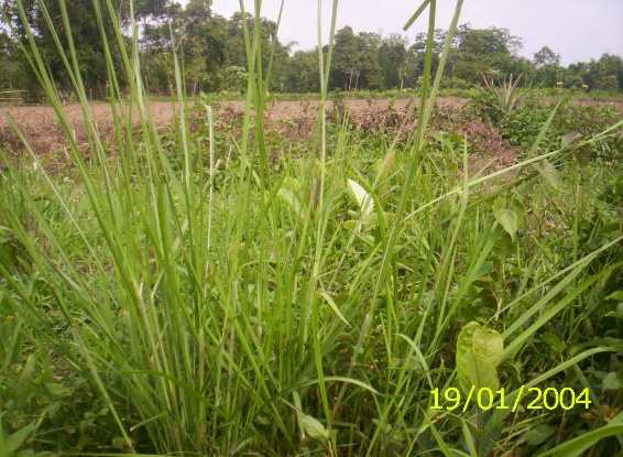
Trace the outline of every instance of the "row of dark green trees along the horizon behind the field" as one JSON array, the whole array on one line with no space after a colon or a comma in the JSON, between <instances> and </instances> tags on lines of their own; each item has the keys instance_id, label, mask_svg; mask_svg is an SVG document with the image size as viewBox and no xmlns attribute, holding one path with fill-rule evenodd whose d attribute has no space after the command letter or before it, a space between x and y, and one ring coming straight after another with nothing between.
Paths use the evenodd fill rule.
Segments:
<instances>
[{"instance_id":1,"label":"row of dark green trees along the horizon behind the field","mask_svg":"<svg viewBox=\"0 0 623 457\"><path fill-rule=\"evenodd\" d=\"M20 44L26 40L26 30L20 24L17 1L0 2L3 11L0 26L0 87L36 93L36 75L20 51ZM47 15L57 26L61 43L67 46L62 2L24 0L23 3L29 24L57 85L61 88L70 87L64 63L56 52L54 36L46 24ZM122 21L122 30L129 35L129 2L114 0L113 3ZM174 45L184 65L188 94L244 90L247 56L242 24L247 20L252 33L253 21L248 12L245 15L236 13L230 19L223 18L214 13L211 3L211 0L190 0L182 7L172 0L134 1L134 15L141 31L142 65L150 93L166 95L172 91ZM103 96L106 61L94 2L73 0L68 4L67 14L85 84L92 95ZM107 40L113 42L113 28L105 24L103 30L108 34ZM270 90L317 91L317 50L294 52L295 43L282 43L276 31L274 21L263 20L262 61L264 68L271 67ZM441 52L445 35L442 30L435 34L434 64ZM130 41L129 37L127 40ZM396 34L382 36L378 33L356 33L348 25L342 28L336 34L330 89L417 87L424 70L425 41L424 34L412 39ZM521 47L521 37L512 35L506 29L474 29L463 24L452 43L445 84L463 88L480 85L482 74L500 77L522 74L523 84L532 87L623 90L623 59L620 56L604 54L599 59L566 67L561 65L560 56L548 46L544 46L532 59L518 55ZM113 58L119 56L114 55Z\"/></svg>"}]
</instances>

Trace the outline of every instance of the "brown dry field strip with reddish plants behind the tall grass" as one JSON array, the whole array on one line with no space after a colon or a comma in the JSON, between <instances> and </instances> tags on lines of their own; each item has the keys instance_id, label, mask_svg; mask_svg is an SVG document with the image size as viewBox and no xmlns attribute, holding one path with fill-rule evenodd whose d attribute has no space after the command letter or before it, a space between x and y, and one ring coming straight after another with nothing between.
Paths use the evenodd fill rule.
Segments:
<instances>
[{"instance_id":1,"label":"brown dry field strip with reddish plants behind the tall grass","mask_svg":"<svg viewBox=\"0 0 623 457\"><path fill-rule=\"evenodd\" d=\"M503 140L499 132L487 123L461 116L467 99L441 98L438 100L438 113L434 119L434 130L466 134L473 152L472 163L477 170L499 170L516 161L517 151ZM417 105L412 100L350 99L327 104L327 112L334 119L336 115L348 113L348 122L362 131L374 131L406 135L416 126ZM308 139L315 128L320 105L318 101L276 101L270 104L265 115L265 127L291 141ZM112 115L107 104L91 106L94 119L102 138L112 135ZM31 148L45 162L52 165L67 163L67 141L56 122L54 110L50 107L6 108L0 116L0 146L8 146L14 152L23 149L21 141L8 122L7 113L19 126ZM87 146L87 135L79 105L65 107L73 134L79 145ZM176 117L174 102L154 101L150 104L150 115L155 126L170 127ZM219 105L217 118L219 124L238 121L244 113L244 102L228 101ZM133 115L135 119L138 117ZM201 122L195 119L194 123Z\"/></svg>"}]
</instances>

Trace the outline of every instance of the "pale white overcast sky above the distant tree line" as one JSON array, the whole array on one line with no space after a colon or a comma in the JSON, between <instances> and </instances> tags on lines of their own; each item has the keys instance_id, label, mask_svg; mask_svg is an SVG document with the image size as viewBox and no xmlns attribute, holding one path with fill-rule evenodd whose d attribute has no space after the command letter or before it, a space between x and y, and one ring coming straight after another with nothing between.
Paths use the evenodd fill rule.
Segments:
<instances>
[{"instance_id":1,"label":"pale white overcast sky above the distant tree line","mask_svg":"<svg viewBox=\"0 0 623 457\"><path fill-rule=\"evenodd\" d=\"M182 2L185 2L182 0ZM357 32L401 33L404 22L420 0L340 0L338 29L346 24ZM244 0L253 9L253 0ZM262 15L276 20L281 0L263 0ZM324 0L328 31L331 0ZM455 0L438 0L438 23L446 29ZM239 10L239 0L214 0L215 12L229 18ZM408 32L424 30L419 20ZM527 57L544 45L559 53L565 64L598 58L603 53L623 56L623 0L466 0L461 23L510 29L524 40L521 54ZM317 1L285 0L280 29L283 43L296 41L303 48L317 43ZM327 32L325 32L325 39Z\"/></svg>"}]
</instances>

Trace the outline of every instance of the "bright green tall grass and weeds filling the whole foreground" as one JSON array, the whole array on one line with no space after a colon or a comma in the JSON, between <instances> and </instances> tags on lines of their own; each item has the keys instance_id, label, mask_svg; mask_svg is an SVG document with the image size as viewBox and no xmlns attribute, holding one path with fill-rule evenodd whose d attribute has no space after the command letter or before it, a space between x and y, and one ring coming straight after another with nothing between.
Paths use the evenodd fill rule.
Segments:
<instances>
[{"instance_id":1,"label":"bright green tall grass and weeds filling the whole foreground","mask_svg":"<svg viewBox=\"0 0 623 457\"><path fill-rule=\"evenodd\" d=\"M129 48L117 26L116 43L105 43L110 148L92 122L63 14L58 52L84 109L88 161L30 35L24 52L75 171L48 175L26 144L36 166L8 165L0 178L0 450L621 450L622 399L612 387L622 362L623 236L616 203L601 193L616 170L581 168L573 153L623 122L538 155L548 119L528 160L488 176L472 175L469 139L452 156L428 154L463 2L433 75L437 2L427 0L418 10L429 32L417 127L406 142L357 143L325 112L337 3L326 53L319 32L317 133L306 154L277 159L286 145L265 135L261 116L261 1L254 26L244 23L248 109L236 137L216 131L209 106L200 107L201 134L190 131L177 64L179 119L170 135L159 132L136 24ZM95 4L100 26L105 14L119 23L111 0ZM503 341L496 377L507 392L589 387L593 410L433 411L430 391L459 384L457 337L472 320ZM73 407L70 395L79 399Z\"/></svg>"}]
</instances>

